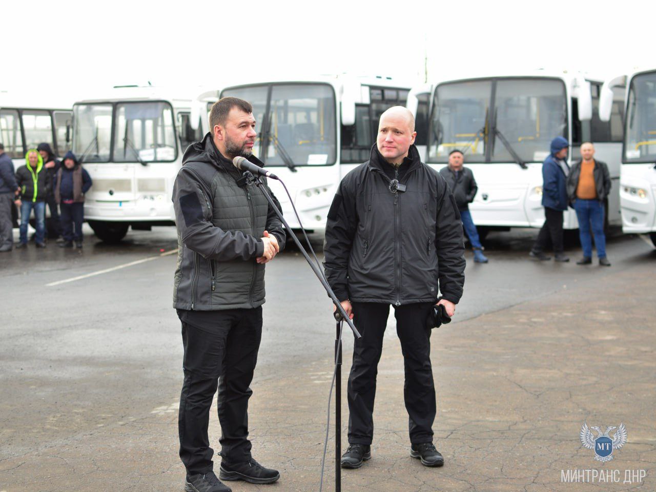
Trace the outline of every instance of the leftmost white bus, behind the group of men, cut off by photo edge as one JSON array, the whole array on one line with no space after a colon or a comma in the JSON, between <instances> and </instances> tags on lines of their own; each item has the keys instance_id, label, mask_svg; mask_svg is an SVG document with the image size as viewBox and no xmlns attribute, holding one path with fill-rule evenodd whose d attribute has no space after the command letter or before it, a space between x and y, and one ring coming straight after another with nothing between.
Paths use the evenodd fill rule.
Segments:
<instances>
[{"instance_id":1,"label":"leftmost white bus, behind the group of men, cut off by photo edge","mask_svg":"<svg viewBox=\"0 0 656 492\"><path fill-rule=\"evenodd\" d=\"M72 100L43 97L39 94L0 92L0 142L14 169L25 164L25 154L41 142L47 142L57 157L71 149ZM14 220L18 211L14 206ZM46 216L50 210L46 207ZM51 226L50 222L46 222ZM47 231L54 234L54 231Z\"/></svg>"}]
</instances>

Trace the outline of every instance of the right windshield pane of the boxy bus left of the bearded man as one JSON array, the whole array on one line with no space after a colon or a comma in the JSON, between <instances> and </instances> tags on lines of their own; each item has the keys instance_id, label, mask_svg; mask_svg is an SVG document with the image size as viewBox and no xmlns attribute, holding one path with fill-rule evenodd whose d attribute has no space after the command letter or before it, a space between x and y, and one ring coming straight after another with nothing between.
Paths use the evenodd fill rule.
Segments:
<instances>
[{"instance_id":1,"label":"right windshield pane of the boxy bus left of the bearded man","mask_svg":"<svg viewBox=\"0 0 656 492\"><path fill-rule=\"evenodd\" d=\"M119 102L114 162L171 162L176 158L173 108L163 101Z\"/></svg>"}]
</instances>

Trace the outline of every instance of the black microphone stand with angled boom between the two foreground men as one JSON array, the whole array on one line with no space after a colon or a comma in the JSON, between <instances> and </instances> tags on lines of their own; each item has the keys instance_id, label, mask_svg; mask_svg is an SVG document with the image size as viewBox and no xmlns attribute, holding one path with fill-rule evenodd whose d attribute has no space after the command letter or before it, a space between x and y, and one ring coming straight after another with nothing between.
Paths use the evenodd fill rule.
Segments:
<instances>
[{"instance_id":1,"label":"black microphone stand with angled boom between the two foreground men","mask_svg":"<svg viewBox=\"0 0 656 492\"><path fill-rule=\"evenodd\" d=\"M287 220L285 220L285 217L283 217L283 214L281 211L279 211L271 195L269 195L266 191L266 186L264 186L264 183L259 178L259 176L253 175L253 173L250 171L244 171L242 176L245 178L247 183L255 184L258 188L260 188L262 194L266 198L266 201L269 202L269 205L271 205L272 209L274 209L276 215L283 223L283 226L285 226L285 229L287 229L287 234L289 234L292 239L294 239L294 242L298 246L299 251L305 257L306 261L310 265L310 268L312 268L312 272L314 272L314 274L317 276L319 282L321 282L321 285L323 285L323 288L329 297L333 300L335 306L337 306L337 310L333 314L337 320L337 328L335 333L335 492L341 492L342 467L340 463L340 455L342 453L342 338L340 335L342 332L342 322L346 321L348 327L350 327L356 338L362 338L362 335L360 335L358 329L353 324L352 319L348 317L346 311L344 311L344 308L342 308L342 304L340 304L340 302L337 300L337 296L335 296L333 289L331 289L330 285L328 285L328 282L323 277L319 267L314 264L310 258L310 255L308 255L308 252L305 251L305 248L298 240L295 232L293 232L293 230L291 230L289 227L289 224L287 224Z\"/></svg>"}]
</instances>

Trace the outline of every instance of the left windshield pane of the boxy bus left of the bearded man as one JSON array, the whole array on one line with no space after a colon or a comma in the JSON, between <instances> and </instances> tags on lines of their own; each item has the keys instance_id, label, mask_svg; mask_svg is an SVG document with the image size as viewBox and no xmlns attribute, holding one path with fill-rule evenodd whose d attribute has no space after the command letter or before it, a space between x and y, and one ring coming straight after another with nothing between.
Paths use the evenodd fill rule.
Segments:
<instances>
[{"instance_id":1,"label":"left windshield pane of the boxy bus left of the bearded man","mask_svg":"<svg viewBox=\"0 0 656 492\"><path fill-rule=\"evenodd\" d=\"M73 106L73 152L84 162L109 162L112 141L111 104Z\"/></svg>"}]
</instances>

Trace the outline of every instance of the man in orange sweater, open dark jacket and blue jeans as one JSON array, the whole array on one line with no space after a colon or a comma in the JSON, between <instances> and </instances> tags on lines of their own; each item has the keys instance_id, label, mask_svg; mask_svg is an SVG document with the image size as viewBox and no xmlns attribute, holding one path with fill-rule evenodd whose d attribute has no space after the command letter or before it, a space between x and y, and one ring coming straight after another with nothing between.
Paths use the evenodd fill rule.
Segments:
<instances>
[{"instance_id":1,"label":"man in orange sweater, open dark jacket and blue jeans","mask_svg":"<svg viewBox=\"0 0 656 492\"><path fill-rule=\"evenodd\" d=\"M577 261L577 265L592 263L594 236L599 264L611 266L606 257L604 235L604 201L611 191L611 176L608 166L594 159L594 146L590 142L581 145L581 157L583 159L573 163L567 177L567 196L574 204L579 219L579 237L583 248L583 258Z\"/></svg>"}]
</instances>

